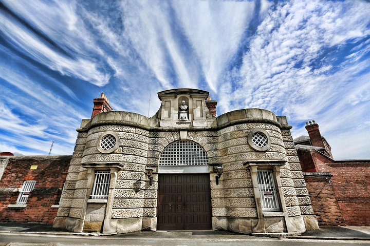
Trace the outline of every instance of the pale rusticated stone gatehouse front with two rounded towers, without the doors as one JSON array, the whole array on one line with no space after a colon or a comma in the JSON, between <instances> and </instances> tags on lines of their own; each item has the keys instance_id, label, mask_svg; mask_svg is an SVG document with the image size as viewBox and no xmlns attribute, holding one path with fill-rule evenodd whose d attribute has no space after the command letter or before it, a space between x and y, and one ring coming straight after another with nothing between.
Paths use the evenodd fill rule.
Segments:
<instances>
[{"instance_id":1,"label":"pale rusticated stone gatehouse front with two rounded towers, without the doors","mask_svg":"<svg viewBox=\"0 0 370 246\"><path fill-rule=\"evenodd\" d=\"M158 175L199 172L210 175L214 230L301 233L306 226L318 228L285 117L263 109L215 117L216 103L207 104L208 92L195 89L167 90L158 96L162 104L151 118L107 111L82 120L54 227L103 233L156 230ZM183 104L186 110L179 108ZM265 136L262 147L251 144L253 131ZM160 165L163 150L177 141L200 146L208 165ZM221 176L216 167L223 168ZM154 170L150 181L148 168ZM106 199L91 199L101 170L110 173L109 191ZM262 207L266 198L258 188L259 170L272 174L278 210Z\"/></svg>"}]
</instances>

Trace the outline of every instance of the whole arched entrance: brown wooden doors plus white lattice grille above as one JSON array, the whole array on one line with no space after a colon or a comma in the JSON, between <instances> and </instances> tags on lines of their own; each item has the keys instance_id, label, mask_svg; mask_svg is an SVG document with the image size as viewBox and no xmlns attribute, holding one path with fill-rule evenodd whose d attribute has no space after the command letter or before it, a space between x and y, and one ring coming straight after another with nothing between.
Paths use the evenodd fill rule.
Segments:
<instances>
[{"instance_id":1,"label":"whole arched entrance: brown wooden doors plus white lattice grille above","mask_svg":"<svg viewBox=\"0 0 370 246\"><path fill-rule=\"evenodd\" d=\"M157 230L212 228L207 153L195 142L177 141L159 161Z\"/></svg>"}]
</instances>

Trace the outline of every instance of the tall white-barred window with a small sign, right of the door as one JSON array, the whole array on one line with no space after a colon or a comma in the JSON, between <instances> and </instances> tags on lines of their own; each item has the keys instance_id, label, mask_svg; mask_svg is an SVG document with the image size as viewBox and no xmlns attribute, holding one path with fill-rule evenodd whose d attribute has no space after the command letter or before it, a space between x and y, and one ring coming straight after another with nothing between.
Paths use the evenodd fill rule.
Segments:
<instances>
[{"instance_id":1,"label":"tall white-barred window with a small sign, right of the door","mask_svg":"<svg viewBox=\"0 0 370 246\"><path fill-rule=\"evenodd\" d=\"M278 192L271 169L261 169L257 171L258 190L261 195L262 211L280 211L278 202Z\"/></svg>"}]
</instances>

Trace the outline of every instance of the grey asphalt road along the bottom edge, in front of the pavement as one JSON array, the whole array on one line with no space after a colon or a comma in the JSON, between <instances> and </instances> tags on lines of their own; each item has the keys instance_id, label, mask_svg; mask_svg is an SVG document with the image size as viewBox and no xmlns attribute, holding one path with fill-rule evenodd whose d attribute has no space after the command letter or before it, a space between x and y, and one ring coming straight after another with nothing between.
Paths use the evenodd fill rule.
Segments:
<instances>
[{"instance_id":1,"label":"grey asphalt road along the bottom edge, in front of the pavement","mask_svg":"<svg viewBox=\"0 0 370 246\"><path fill-rule=\"evenodd\" d=\"M11 242L10 244L8 244ZM242 235L221 235L214 238L189 237L189 238L137 238L137 237L94 237L75 235L53 235L53 234L32 234L32 233L0 233L0 245L29 245L29 246L64 246L64 245L201 245L201 246L308 246L308 245L370 245L370 241L354 240L307 240L289 238L258 238Z\"/></svg>"}]
</instances>

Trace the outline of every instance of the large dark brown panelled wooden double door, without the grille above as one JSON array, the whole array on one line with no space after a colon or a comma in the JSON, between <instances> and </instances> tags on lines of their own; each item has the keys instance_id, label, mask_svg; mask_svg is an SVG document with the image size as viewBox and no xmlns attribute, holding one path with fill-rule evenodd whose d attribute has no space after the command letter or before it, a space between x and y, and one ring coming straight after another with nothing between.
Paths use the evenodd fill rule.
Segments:
<instances>
[{"instance_id":1,"label":"large dark brown panelled wooden double door, without the grille above","mask_svg":"<svg viewBox=\"0 0 370 246\"><path fill-rule=\"evenodd\" d=\"M160 174L157 230L212 228L209 174Z\"/></svg>"}]
</instances>

